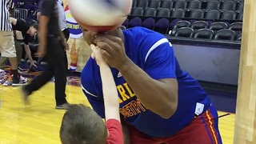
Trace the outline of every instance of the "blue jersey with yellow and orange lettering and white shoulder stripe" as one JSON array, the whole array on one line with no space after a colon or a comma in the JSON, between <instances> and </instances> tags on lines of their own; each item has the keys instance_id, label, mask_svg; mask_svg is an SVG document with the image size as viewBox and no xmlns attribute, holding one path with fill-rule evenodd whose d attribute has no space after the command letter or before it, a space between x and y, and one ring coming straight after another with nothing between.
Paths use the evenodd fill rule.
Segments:
<instances>
[{"instance_id":1,"label":"blue jersey with yellow and orange lettering and white shoulder stripe","mask_svg":"<svg viewBox=\"0 0 256 144\"><path fill-rule=\"evenodd\" d=\"M187 126L195 114L210 107L210 98L198 81L182 71L174 50L162 34L142 27L123 31L126 55L151 78L178 80L178 109L171 118L161 118L139 102L129 83L116 69L111 69L117 86L120 113L131 125L150 137L169 137ZM81 74L82 90L94 110L104 118L102 82L99 67L90 58ZM158 97L158 95L156 95Z\"/></svg>"}]
</instances>

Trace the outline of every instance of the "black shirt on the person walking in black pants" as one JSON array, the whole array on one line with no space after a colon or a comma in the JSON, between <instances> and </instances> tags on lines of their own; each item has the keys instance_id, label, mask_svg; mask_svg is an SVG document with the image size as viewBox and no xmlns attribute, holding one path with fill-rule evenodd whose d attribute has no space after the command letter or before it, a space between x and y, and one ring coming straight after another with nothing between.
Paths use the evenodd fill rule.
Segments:
<instances>
[{"instance_id":1,"label":"black shirt on the person walking in black pants","mask_svg":"<svg viewBox=\"0 0 256 144\"><path fill-rule=\"evenodd\" d=\"M60 28L58 26L58 6L56 0L42 0L39 6L41 15L50 17L48 22L48 34L59 35Z\"/></svg>"}]
</instances>

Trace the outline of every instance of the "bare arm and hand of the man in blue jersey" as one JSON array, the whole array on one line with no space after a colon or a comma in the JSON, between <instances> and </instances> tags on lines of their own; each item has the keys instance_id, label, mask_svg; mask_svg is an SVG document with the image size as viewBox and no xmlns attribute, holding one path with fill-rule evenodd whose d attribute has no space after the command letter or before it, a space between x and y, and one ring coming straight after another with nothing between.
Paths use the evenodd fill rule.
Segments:
<instances>
[{"instance_id":1,"label":"bare arm and hand of the man in blue jersey","mask_svg":"<svg viewBox=\"0 0 256 144\"><path fill-rule=\"evenodd\" d=\"M147 109L158 114L162 118L170 118L178 106L178 82L174 78L163 78L155 80L146 74L140 67L127 57L121 38L112 35L98 35L94 42L102 50L106 62L119 70L129 86L134 90L137 98ZM171 50L166 42L164 47ZM169 56L168 56L169 57ZM157 58L154 59L157 61ZM172 63L163 63L170 65Z\"/></svg>"}]
</instances>

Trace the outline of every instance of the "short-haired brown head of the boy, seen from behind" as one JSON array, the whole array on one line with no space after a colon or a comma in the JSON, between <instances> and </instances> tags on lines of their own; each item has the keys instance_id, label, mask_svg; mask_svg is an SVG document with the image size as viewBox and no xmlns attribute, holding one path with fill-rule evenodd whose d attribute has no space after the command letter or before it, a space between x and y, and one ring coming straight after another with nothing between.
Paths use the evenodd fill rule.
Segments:
<instances>
[{"instance_id":1,"label":"short-haired brown head of the boy, seen from behind","mask_svg":"<svg viewBox=\"0 0 256 144\"><path fill-rule=\"evenodd\" d=\"M88 106L71 105L62 118L62 144L105 144L107 135L105 122Z\"/></svg>"}]
</instances>

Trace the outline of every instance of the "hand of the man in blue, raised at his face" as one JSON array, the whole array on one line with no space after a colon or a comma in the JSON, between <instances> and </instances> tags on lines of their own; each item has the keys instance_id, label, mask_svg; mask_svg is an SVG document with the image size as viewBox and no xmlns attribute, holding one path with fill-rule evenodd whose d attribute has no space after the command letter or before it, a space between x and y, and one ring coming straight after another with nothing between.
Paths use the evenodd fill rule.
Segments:
<instances>
[{"instance_id":1,"label":"hand of the man in blue, raised at his face","mask_svg":"<svg viewBox=\"0 0 256 144\"><path fill-rule=\"evenodd\" d=\"M98 34L94 44L102 49L101 53L106 63L118 70L129 62L121 38L108 34Z\"/></svg>"}]
</instances>

